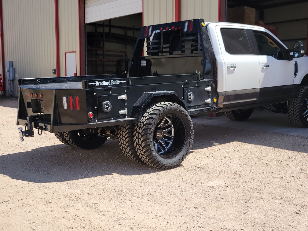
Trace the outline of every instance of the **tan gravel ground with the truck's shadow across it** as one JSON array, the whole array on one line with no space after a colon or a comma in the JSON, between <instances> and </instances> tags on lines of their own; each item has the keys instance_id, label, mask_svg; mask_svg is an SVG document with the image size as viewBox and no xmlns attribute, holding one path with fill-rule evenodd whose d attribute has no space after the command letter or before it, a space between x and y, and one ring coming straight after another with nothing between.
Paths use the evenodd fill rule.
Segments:
<instances>
[{"instance_id":1,"label":"tan gravel ground with the truck's shadow across it","mask_svg":"<svg viewBox=\"0 0 308 231\"><path fill-rule=\"evenodd\" d=\"M308 140L194 124L178 168L135 164L117 140L85 151L35 133L0 100L0 230L308 230Z\"/></svg>"}]
</instances>

